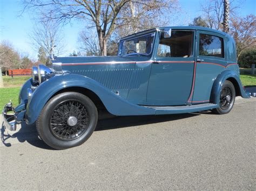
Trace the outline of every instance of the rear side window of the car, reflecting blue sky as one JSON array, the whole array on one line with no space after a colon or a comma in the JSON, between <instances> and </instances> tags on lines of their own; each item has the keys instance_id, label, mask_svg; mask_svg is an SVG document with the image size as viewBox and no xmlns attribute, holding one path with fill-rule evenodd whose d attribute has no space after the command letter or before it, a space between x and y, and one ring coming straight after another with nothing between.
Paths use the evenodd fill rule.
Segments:
<instances>
[{"instance_id":1,"label":"rear side window of the car, reflecting blue sky","mask_svg":"<svg viewBox=\"0 0 256 191\"><path fill-rule=\"evenodd\" d=\"M223 38L208 34L200 34L199 55L224 58Z\"/></svg>"}]
</instances>

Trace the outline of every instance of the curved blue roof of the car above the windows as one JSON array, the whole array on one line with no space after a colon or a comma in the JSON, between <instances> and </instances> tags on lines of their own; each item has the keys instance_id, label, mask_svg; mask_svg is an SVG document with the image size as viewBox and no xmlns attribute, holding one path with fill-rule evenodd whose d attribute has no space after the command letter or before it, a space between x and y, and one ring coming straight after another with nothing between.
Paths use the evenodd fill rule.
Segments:
<instances>
[{"instance_id":1,"label":"curved blue roof of the car above the windows","mask_svg":"<svg viewBox=\"0 0 256 191\"><path fill-rule=\"evenodd\" d=\"M149 30L133 33L133 34L130 34L129 36L121 38L120 40L125 40L125 39L136 37L136 36L139 36L139 35L142 35L142 34L155 32L155 31L158 31L158 30L164 30L164 29L210 31L210 32L215 32L215 33L222 34L223 36L226 36L226 33L224 33L224 32L214 30L214 29L210 29L210 28L207 28L207 27L202 27L202 26L165 26L165 27L155 27L155 28L152 28L152 29L149 29Z\"/></svg>"}]
</instances>

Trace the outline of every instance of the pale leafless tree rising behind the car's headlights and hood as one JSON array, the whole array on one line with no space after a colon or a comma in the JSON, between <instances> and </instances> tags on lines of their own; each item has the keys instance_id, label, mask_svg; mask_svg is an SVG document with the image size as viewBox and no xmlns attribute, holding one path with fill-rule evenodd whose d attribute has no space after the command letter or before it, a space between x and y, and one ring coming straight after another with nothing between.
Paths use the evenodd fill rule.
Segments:
<instances>
[{"instance_id":1,"label":"pale leafless tree rising behind the car's headlights and hood","mask_svg":"<svg viewBox=\"0 0 256 191\"><path fill-rule=\"evenodd\" d=\"M38 51L43 48L46 56L58 55L63 51L62 31L56 20L43 18L40 22L34 24L29 38L35 50Z\"/></svg>"}]
</instances>

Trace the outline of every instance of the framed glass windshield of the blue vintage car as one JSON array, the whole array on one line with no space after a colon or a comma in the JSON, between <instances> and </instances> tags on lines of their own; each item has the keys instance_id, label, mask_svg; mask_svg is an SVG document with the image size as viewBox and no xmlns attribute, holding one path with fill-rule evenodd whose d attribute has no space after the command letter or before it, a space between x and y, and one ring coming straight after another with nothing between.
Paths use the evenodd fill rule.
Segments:
<instances>
[{"instance_id":1,"label":"framed glass windshield of the blue vintage car","mask_svg":"<svg viewBox=\"0 0 256 191\"><path fill-rule=\"evenodd\" d=\"M120 42L118 55L149 55L153 49L155 33L144 34Z\"/></svg>"}]
</instances>

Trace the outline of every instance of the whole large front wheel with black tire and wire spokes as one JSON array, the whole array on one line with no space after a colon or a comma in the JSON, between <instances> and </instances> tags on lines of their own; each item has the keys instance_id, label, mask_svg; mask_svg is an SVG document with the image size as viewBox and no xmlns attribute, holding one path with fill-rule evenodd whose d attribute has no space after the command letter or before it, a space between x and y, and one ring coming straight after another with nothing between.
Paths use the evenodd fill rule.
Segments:
<instances>
[{"instance_id":1,"label":"whole large front wheel with black tire and wire spokes","mask_svg":"<svg viewBox=\"0 0 256 191\"><path fill-rule=\"evenodd\" d=\"M97 122L98 111L89 97L65 92L46 103L36 128L47 145L62 150L83 144L92 135Z\"/></svg>"}]
</instances>

